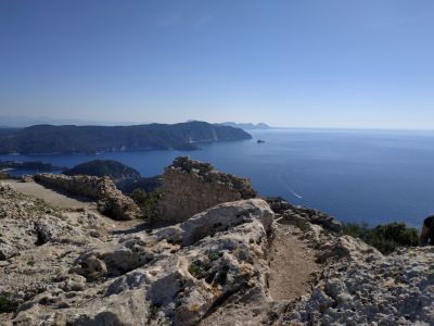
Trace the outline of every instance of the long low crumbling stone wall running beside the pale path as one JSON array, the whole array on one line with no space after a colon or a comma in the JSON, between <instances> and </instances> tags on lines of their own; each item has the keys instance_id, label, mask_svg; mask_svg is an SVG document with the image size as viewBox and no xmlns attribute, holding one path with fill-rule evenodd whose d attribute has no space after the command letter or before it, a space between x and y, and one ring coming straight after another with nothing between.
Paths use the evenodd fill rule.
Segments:
<instances>
[{"instance_id":1,"label":"long low crumbling stone wall running beside the pale path","mask_svg":"<svg viewBox=\"0 0 434 326\"><path fill-rule=\"evenodd\" d=\"M98 210L115 220L133 220L140 209L133 200L122 193L110 177L66 176L63 174L36 174L35 180L71 193L98 200Z\"/></svg>"}]
</instances>

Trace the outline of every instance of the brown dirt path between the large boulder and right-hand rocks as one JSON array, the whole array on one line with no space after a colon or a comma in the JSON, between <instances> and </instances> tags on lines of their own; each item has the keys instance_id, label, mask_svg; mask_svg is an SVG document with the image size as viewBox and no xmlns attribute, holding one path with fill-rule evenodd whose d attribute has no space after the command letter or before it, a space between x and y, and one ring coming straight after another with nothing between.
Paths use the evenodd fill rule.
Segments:
<instances>
[{"instance_id":1,"label":"brown dirt path between the large boulder and right-hand rocks","mask_svg":"<svg viewBox=\"0 0 434 326\"><path fill-rule=\"evenodd\" d=\"M320 271L315 252L294 226L279 224L270 256L270 292L275 300L293 300L310 292L310 275Z\"/></svg>"}]
</instances>

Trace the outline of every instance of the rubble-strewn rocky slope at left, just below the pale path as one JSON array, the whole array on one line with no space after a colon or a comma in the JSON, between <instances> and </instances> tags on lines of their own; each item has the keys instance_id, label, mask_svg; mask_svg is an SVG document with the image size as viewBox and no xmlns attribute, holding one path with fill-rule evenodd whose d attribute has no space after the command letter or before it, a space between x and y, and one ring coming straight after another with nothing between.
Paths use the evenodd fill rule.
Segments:
<instances>
[{"instance_id":1,"label":"rubble-strewn rocky slope at left, just below the pale path","mask_svg":"<svg viewBox=\"0 0 434 326\"><path fill-rule=\"evenodd\" d=\"M53 284L77 290L67 271L88 246L106 238L108 222L93 212L55 210L0 183L0 325L3 293L21 304Z\"/></svg>"}]
</instances>

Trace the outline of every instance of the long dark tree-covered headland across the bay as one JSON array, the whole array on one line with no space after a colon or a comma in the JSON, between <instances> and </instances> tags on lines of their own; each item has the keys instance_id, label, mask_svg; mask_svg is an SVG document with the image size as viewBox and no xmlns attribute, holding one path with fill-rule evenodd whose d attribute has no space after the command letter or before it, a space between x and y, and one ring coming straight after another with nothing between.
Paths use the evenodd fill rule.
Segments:
<instances>
[{"instance_id":1,"label":"long dark tree-covered headland across the bay","mask_svg":"<svg viewBox=\"0 0 434 326\"><path fill-rule=\"evenodd\" d=\"M152 149L197 149L197 142L251 139L246 131L230 126L190 122L174 125L52 126L3 129L0 153L102 153Z\"/></svg>"}]
</instances>

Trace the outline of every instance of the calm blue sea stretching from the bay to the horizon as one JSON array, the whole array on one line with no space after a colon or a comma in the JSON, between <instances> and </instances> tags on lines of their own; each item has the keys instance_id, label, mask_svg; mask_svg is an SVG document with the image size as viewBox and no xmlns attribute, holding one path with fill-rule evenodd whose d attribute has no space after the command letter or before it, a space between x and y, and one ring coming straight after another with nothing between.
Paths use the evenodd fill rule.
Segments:
<instances>
[{"instance_id":1,"label":"calm blue sea stretching from the bay to the horizon","mask_svg":"<svg viewBox=\"0 0 434 326\"><path fill-rule=\"evenodd\" d=\"M405 221L419 226L434 213L434 133L273 129L253 140L203 145L200 151L149 151L101 155L0 155L74 166L113 159L161 174L178 155L207 161L248 177L261 195L326 211L341 221ZM260 138L265 143L256 143Z\"/></svg>"}]
</instances>

